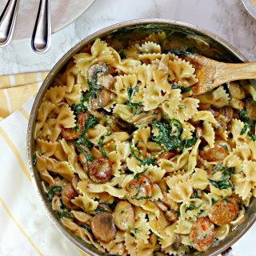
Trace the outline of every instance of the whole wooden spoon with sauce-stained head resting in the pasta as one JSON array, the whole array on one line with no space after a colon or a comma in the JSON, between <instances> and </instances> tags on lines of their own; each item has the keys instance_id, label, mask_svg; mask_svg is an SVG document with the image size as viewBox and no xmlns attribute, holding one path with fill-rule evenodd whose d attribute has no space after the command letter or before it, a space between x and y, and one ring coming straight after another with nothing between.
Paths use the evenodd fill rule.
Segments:
<instances>
[{"instance_id":1,"label":"whole wooden spoon with sauce-stained head resting in the pasta","mask_svg":"<svg viewBox=\"0 0 256 256\"><path fill-rule=\"evenodd\" d=\"M233 64L217 62L186 51L172 51L172 53L186 59L195 67L195 74L199 81L192 86L194 95L205 94L225 82L256 78L256 62Z\"/></svg>"}]
</instances>

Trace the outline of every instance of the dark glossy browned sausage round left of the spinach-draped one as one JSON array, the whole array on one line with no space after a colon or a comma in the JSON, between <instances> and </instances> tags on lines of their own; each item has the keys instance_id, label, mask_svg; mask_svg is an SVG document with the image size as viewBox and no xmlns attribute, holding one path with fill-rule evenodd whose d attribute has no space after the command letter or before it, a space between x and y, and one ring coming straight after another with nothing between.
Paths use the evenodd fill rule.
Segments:
<instances>
[{"instance_id":1,"label":"dark glossy browned sausage round left of the spinach-draped one","mask_svg":"<svg viewBox=\"0 0 256 256\"><path fill-rule=\"evenodd\" d=\"M109 159L96 158L88 163L88 175L93 182L106 182L112 175L112 164Z\"/></svg>"}]
</instances>

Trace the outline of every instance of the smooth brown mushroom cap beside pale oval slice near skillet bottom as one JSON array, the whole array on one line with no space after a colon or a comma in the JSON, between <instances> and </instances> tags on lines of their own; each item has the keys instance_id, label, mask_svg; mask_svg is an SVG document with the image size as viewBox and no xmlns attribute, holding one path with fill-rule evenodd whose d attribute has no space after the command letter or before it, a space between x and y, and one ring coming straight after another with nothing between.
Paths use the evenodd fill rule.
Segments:
<instances>
[{"instance_id":1,"label":"smooth brown mushroom cap beside pale oval slice near skillet bottom","mask_svg":"<svg viewBox=\"0 0 256 256\"><path fill-rule=\"evenodd\" d=\"M114 226L112 214L102 212L97 214L91 220L91 230L94 237L102 242L110 242L117 234L117 228Z\"/></svg>"}]
</instances>

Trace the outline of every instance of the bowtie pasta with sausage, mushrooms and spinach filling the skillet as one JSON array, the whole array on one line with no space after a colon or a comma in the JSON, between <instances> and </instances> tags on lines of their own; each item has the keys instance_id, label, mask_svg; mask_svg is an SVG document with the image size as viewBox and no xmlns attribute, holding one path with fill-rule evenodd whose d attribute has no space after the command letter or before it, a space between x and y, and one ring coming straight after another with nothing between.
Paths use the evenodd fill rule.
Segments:
<instances>
[{"instance_id":1,"label":"bowtie pasta with sausage, mushrooms and spinach filling the skillet","mask_svg":"<svg viewBox=\"0 0 256 256\"><path fill-rule=\"evenodd\" d=\"M62 225L101 252L206 251L256 196L256 102L230 82L194 98L194 66L165 33L97 39L47 90L34 165ZM247 89L247 90L246 90Z\"/></svg>"}]
</instances>

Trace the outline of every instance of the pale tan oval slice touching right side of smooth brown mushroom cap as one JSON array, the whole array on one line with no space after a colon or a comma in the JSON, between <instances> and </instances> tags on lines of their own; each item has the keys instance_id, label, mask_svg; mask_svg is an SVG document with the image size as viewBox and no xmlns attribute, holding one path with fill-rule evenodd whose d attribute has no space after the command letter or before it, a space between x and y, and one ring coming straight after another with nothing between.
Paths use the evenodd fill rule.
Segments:
<instances>
[{"instance_id":1,"label":"pale tan oval slice touching right side of smooth brown mushroom cap","mask_svg":"<svg viewBox=\"0 0 256 256\"><path fill-rule=\"evenodd\" d=\"M128 230L134 227L134 208L129 202L120 201L114 208L114 224L119 230Z\"/></svg>"}]
</instances>

